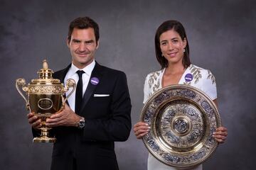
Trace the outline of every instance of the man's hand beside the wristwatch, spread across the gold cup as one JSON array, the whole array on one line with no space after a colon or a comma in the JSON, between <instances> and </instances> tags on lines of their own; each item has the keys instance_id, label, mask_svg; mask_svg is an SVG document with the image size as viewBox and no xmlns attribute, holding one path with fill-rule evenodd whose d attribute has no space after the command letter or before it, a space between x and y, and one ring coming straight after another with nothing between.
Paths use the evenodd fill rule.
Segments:
<instances>
[{"instance_id":1,"label":"man's hand beside the wristwatch, spread across the gold cup","mask_svg":"<svg viewBox=\"0 0 256 170\"><path fill-rule=\"evenodd\" d=\"M71 108L65 103L63 110L53 114L46 120L46 126L77 126L81 117L71 110Z\"/></svg>"}]
</instances>

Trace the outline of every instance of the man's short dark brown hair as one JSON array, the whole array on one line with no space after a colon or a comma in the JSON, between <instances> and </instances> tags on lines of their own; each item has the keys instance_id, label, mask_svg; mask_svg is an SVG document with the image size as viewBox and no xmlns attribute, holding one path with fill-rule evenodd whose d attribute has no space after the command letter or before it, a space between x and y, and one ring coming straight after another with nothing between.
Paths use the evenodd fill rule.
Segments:
<instances>
[{"instance_id":1,"label":"man's short dark brown hair","mask_svg":"<svg viewBox=\"0 0 256 170\"><path fill-rule=\"evenodd\" d=\"M100 38L100 30L99 30L99 26L95 21L92 20L92 18L85 16L85 17L75 18L73 21L71 21L68 27L68 42L70 42L71 40L71 35L73 33L74 28L78 28L78 29L93 28L95 32L95 39L97 44Z\"/></svg>"}]
</instances>

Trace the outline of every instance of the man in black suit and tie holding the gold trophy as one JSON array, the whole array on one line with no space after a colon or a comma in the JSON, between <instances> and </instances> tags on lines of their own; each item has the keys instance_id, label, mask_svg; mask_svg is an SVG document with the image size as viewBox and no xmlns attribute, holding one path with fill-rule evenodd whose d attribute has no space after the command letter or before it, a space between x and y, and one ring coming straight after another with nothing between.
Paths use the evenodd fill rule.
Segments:
<instances>
[{"instance_id":1,"label":"man in black suit and tie holding the gold trophy","mask_svg":"<svg viewBox=\"0 0 256 170\"><path fill-rule=\"evenodd\" d=\"M97 23L91 18L70 23L67 44L72 64L53 77L62 82L75 79L77 90L65 108L46 121L57 138L52 170L118 169L114 141L129 137L132 106L125 74L95 62L99 37ZM81 87L82 94L78 93ZM29 113L28 122L37 135L41 120Z\"/></svg>"}]
</instances>

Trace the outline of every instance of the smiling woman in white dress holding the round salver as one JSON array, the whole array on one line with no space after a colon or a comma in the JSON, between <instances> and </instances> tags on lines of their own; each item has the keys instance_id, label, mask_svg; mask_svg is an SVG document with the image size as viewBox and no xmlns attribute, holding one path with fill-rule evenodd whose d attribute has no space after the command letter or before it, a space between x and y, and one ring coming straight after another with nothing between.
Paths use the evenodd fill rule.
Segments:
<instances>
[{"instance_id":1,"label":"smiling woman in white dress holding the round salver","mask_svg":"<svg viewBox=\"0 0 256 170\"><path fill-rule=\"evenodd\" d=\"M189 84L204 91L217 106L217 90L213 74L207 70L191 64L189 60L189 46L185 29L178 21L165 21L156 30L155 35L156 59L161 64L161 70L147 75L144 84L144 101L155 91L172 84ZM143 122L134 125L134 134L142 139L149 131L149 125ZM216 141L223 143L228 135L224 127L217 128L213 133ZM151 154L148 158L148 170L176 169L167 166ZM202 165L192 169L203 169Z\"/></svg>"}]
</instances>

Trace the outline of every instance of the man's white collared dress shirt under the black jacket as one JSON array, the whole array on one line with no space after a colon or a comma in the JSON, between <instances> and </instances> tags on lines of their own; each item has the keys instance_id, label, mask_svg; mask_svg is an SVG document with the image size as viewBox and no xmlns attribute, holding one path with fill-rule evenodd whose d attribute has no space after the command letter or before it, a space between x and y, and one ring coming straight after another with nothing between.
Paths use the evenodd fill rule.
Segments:
<instances>
[{"instance_id":1,"label":"man's white collared dress shirt under the black jacket","mask_svg":"<svg viewBox=\"0 0 256 170\"><path fill-rule=\"evenodd\" d=\"M92 74L92 69L94 69L94 67L95 67L95 60L93 60L92 63L90 63L83 69L78 69L78 67L75 67L75 65L72 63L70 69L65 75L64 83L66 83L68 79L74 79L75 84L78 84L79 77L76 72L78 70L84 71L85 73L82 74L82 96L83 96L85 94L85 90L87 89L88 83L90 81L90 76ZM65 95L68 96L71 90L72 89L69 89L68 92L65 93ZM68 103L70 108L75 112L75 91L68 98Z\"/></svg>"}]
</instances>

